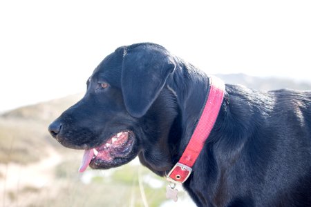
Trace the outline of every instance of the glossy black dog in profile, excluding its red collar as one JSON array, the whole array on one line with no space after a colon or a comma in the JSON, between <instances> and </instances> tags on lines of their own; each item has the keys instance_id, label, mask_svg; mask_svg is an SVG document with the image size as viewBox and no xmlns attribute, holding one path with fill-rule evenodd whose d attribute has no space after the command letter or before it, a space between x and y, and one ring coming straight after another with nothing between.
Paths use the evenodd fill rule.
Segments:
<instances>
[{"instance_id":1,"label":"glossy black dog in profile, excluding its red collar","mask_svg":"<svg viewBox=\"0 0 311 207\"><path fill-rule=\"evenodd\" d=\"M120 47L49 131L62 145L85 150L80 171L138 155L164 176L194 132L208 87L207 75L162 46ZM183 184L196 204L311 206L310 101L311 92L225 85L214 128Z\"/></svg>"}]
</instances>

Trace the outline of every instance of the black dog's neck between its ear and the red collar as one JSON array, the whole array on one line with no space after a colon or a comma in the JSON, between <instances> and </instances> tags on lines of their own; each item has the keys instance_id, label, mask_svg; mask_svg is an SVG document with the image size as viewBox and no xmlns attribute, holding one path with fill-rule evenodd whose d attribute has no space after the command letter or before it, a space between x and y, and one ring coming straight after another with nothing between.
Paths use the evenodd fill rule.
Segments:
<instances>
[{"instance_id":1,"label":"black dog's neck between its ear and the red collar","mask_svg":"<svg viewBox=\"0 0 311 207\"><path fill-rule=\"evenodd\" d=\"M178 152L183 152L191 139L196 122L209 90L209 77L189 63L176 61L176 70L167 80L167 85L176 95L180 111L181 137ZM181 154L176 155L178 161Z\"/></svg>"}]
</instances>

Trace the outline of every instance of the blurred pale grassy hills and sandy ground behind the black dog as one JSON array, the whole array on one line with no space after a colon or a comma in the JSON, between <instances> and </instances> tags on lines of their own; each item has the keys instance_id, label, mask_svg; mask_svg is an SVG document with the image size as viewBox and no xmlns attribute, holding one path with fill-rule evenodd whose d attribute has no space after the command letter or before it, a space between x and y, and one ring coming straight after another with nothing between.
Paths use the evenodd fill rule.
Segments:
<instances>
[{"instance_id":1,"label":"blurred pale grassy hills and sandy ground behind the black dog","mask_svg":"<svg viewBox=\"0 0 311 207\"><path fill-rule=\"evenodd\" d=\"M226 83L260 90L311 90L310 83L288 79L217 76ZM194 206L185 192L178 195L181 201L176 204L168 201L164 178L137 160L111 170L78 173L83 152L58 144L47 127L81 98L73 95L0 115L0 206L146 206L146 202L148 206Z\"/></svg>"}]
</instances>

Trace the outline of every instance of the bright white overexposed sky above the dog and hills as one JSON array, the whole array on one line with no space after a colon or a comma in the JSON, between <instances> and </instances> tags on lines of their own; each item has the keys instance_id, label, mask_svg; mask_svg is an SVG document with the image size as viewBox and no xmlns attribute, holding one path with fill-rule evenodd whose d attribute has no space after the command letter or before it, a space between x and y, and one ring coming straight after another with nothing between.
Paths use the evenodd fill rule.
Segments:
<instances>
[{"instance_id":1,"label":"bright white overexposed sky above the dog and hills","mask_svg":"<svg viewBox=\"0 0 311 207\"><path fill-rule=\"evenodd\" d=\"M115 48L149 41L207 74L311 81L311 1L0 0L0 111L84 92Z\"/></svg>"}]
</instances>

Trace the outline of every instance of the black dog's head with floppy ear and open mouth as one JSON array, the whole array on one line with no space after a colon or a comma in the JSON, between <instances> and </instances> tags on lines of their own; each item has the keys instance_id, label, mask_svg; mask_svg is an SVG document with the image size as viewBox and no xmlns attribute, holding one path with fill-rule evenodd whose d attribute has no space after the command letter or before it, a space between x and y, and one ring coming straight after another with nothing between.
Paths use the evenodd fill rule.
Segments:
<instances>
[{"instance_id":1,"label":"black dog's head with floppy ear and open mouth","mask_svg":"<svg viewBox=\"0 0 311 207\"><path fill-rule=\"evenodd\" d=\"M50 124L50 134L85 150L81 171L121 166L139 155L162 175L172 166L168 142L178 107L166 82L175 68L162 46L117 48L88 78L84 97Z\"/></svg>"}]
</instances>

